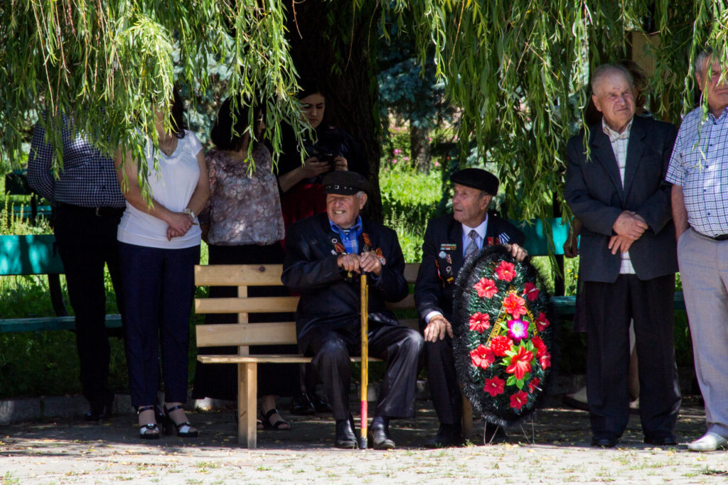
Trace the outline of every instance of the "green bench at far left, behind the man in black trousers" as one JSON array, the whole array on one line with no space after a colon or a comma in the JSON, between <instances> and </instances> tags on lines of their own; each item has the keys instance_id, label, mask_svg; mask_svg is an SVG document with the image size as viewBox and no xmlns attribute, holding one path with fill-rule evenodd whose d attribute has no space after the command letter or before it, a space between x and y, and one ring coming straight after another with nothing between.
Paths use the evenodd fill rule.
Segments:
<instances>
[{"instance_id":1,"label":"green bench at far left, behind the man in black trousers","mask_svg":"<svg viewBox=\"0 0 728 485\"><path fill-rule=\"evenodd\" d=\"M2 332L41 332L45 330L73 330L75 317L68 316L60 289L63 262L55 250L55 236L38 234L28 236L0 236L0 276L47 275L50 298L56 316L0 319ZM108 328L122 326L118 314L106 316Z\"/></svg>"}]
</instances>

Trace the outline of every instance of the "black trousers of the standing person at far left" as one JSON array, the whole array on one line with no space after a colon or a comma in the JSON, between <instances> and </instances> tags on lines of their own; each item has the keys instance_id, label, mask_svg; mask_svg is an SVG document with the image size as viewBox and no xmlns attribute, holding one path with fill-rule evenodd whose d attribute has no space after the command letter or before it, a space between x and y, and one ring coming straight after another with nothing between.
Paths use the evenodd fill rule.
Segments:
<instances>
[{"instance_id":1,"label":"black trousers of the standing person at far left","mask_svg":"<svg viewBox=\"0 0 728 485\"><path fill-rule=\"evenodd\" d=\"M59 204L54 232L58 253L66 271L71 307L76 315L76 348L79 353L84 396L94 409L110 405L114 393L108 388L110 348L106 332L106 287L108 266L119 311L124 315L116 226L124 209L95 209Z\"/></svg>"}]
</instances>

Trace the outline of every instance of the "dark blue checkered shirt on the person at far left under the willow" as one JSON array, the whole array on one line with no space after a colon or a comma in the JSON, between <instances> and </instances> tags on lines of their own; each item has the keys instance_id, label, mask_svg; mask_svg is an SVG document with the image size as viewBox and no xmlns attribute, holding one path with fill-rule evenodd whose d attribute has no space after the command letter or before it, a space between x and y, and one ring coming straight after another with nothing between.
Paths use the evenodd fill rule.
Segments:
<instances>
[{"instance_id":1,"label":"dark blue checkered shirt on the person at far left under the willow","mask_svg":"<svg viewBox=\"0 0 728 485\"><path fill-rule=\"evenodd\" d=\"M52 173L55 149L45 139L45 129L36 123L28 153L28 184L52 204L123 208L114 160L94 148L81 132L74 133L68 116L63 121L63 169L58 171L58 180Z\"/></svg>"}]
</instances>

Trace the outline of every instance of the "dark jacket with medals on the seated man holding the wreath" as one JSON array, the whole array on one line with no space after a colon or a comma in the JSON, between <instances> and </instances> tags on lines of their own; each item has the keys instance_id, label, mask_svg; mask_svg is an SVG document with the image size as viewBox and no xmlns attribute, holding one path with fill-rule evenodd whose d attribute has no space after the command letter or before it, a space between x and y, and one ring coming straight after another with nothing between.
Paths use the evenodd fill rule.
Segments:
<instances>
[{"instance_id":1,"label":"dark jacket with medals on the seated man holding the wreath","mask_svg":"<svg viewBox=\"0 0 728 485\"><path fill-rule=\"evenodd\" d=\"M486 240L483 246L499 244L499 236L507 242L523 246L523 233L495 214L488 214ZM422 244L422 265L414 284L414 301L424 328L424 317L439 311L448 320L452 316L455 279L462 268L462 224L452 215L430 220Z\"/></svg>"}]
</instances>

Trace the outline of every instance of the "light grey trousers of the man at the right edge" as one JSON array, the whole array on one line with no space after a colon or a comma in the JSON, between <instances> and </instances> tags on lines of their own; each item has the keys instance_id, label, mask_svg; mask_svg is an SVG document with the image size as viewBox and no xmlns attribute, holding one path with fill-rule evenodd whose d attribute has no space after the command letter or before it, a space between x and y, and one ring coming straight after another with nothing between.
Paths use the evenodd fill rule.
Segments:
<instances>
[{"instance_id":1,"label":"light grey trousers of the man at the right edge","mask_svg":"<svg viewBox=\"0 0 728 485\"><path fill-rule=\"evenodd\" d=\"M705 422L728 438L728 241L689 228L678 239L678 263Z\"/></svg>"}]
</instances>

